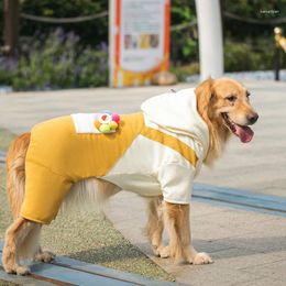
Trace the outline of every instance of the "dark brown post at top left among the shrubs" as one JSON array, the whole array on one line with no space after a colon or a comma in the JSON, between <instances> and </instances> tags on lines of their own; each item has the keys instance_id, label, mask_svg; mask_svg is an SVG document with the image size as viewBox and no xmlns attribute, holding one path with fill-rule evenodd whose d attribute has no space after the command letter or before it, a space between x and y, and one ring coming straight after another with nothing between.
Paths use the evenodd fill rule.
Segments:
<instances>
[{"instance_id":1,"label":"dark brown post at top left among the shrubs","mask_svg":"<svg viewBox=\"0 0 286 286\"><path fill-rule=\"evenodd\" d=\"M18 55L19 0L4 0L4 45L9 56Z\"/></svg>"}]
</instances>

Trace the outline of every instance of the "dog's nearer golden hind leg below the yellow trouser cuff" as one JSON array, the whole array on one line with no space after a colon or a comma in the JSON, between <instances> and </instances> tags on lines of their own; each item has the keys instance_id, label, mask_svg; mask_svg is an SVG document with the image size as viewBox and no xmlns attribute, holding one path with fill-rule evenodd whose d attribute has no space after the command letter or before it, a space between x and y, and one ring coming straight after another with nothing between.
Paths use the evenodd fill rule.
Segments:
<instances>
[{"instance_id":1,"label":"dog's nearer golden hind leg below the yellow trouser cuff","mask_svg":"<svg viewBox=\"0 0 286 286\"><path fill-rule=\"evenodd\" d=\"M26 275L30 268L20 264L20 257L23 253L24 256L32 257L34 253L28 253L28 240L31 232L38 228L38 223L29 221L24 218L18 218L6 232L6 242L2 254L3 267L7 273L16 273L18 275ZM38 248L35 245L35 250ZM31 246L31 245L30 245ZM33 248L28 248L32 251Z\"/></svg>"}]
</instances>

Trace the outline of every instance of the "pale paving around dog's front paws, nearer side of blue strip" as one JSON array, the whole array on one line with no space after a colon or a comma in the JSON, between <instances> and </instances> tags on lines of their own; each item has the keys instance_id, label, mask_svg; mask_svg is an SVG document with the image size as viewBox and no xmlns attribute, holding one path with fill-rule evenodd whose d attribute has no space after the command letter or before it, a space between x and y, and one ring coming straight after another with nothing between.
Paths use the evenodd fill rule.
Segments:
<instances>
[{"instance_id":1,"label":"pale paving around dog's front paws, nearer side of blue strip","mask_svg":"<svg viewBox=\"0 0 286 286\"><path fill-rule=\"evenodd\" d=\"M286 218L193 202L191 231L197 251L215 260L209 265L174 265L152 254L146 238L145 201L119 194L109 204L114 227L155 263L193 286L284 286L286 282Z\"/></svg>"}]
</instances>

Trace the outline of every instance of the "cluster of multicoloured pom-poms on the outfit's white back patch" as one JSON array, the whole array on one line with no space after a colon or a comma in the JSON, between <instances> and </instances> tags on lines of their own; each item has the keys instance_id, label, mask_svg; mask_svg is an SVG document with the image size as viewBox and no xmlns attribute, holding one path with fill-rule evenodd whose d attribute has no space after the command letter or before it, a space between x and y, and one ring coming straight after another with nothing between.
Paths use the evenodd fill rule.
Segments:
<instances>
[{"instance_id":1,"label":"cluster of multicoloured pom-poms on the outfit's white back patch","mask_svg":"<svg viewBox=\"0 0 286 286\"><path fill-rule=\"evenodd\" d=\"M120 122L120 116L118 113L112 113L106 111L105 113L99 113L95 120L95 127L101 133L116 132Z\"/></svg>"}]
</instances>

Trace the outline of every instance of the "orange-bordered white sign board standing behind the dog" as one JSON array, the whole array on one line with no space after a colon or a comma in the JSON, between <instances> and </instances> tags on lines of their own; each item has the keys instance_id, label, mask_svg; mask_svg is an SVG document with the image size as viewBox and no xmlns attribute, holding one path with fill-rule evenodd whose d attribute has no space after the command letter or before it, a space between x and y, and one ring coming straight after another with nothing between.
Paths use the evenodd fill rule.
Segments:
<instances>
[{"instance_id":1,"label":"orange-bordered white sign board standing behind the dog","mask_svg":"<svg viewBox=\"0 0 286 286\"><path fill-rule=\"evenodd\" d=\"M168 69L169 0L110 0L110 86L150 85Z\"/></svg>"}]
</instances>

